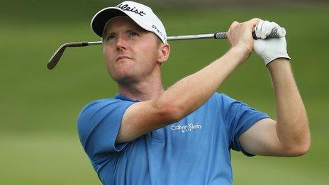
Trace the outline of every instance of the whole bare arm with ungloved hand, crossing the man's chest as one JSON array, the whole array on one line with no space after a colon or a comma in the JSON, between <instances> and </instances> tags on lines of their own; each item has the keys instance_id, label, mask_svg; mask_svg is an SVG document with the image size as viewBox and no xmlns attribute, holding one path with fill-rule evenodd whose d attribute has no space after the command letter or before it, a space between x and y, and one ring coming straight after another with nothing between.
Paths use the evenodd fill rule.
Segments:
<instances>
[{"instance_id":1,"label":"whole bare arm with ungloved hand, crossing the man's chest","mask_svg":"<svg viewBox=\"0 0 329 185\"><path fill-rule=\"evenodd\" d=\"M123 115L117 143L128 142L169 125L199 108L252 52L252 28L260 21L234 22L228 30L232 46L218 60L167 89L157 99L134 103ZM209 80L211 79L211 80ZM200 90L202 89L202 90Z\"/></svg>"}]
</instances>

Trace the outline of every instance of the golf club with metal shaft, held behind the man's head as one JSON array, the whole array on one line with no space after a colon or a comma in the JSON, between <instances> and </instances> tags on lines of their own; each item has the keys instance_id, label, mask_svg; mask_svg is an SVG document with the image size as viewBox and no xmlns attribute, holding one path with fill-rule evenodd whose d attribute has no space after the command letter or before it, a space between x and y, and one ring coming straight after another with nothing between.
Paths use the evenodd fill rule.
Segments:
<instances>
[{"instance_id":1,"label":"golf club with metal shaft, held behind the man's head","mask_svg":"<svg viewBox=\"0 0 329 185\"><path fill-rule=\"evenodd\" d=\"M265 39L268 38L281 38L286 35L286 30L284 28L273 29L272 32L267 35ZM252 32L252 37L257 39L255 32ZM214 39L225 39L227 38L226 32L218 32L218 33L209 33L209 34L200 34L200 35L179 35L179 36L169 36L167 40L191 40L191 39L203 39L203 38L214 38ZM101 41L82 41L82 42L74 42L74 43L65 43L61 45L50 57L50 60L47 64L48 69L54 69L57 65L60 57L62 57L66 47L82 47L88 45L101 45Z\"/></svg>"}]
</instances>

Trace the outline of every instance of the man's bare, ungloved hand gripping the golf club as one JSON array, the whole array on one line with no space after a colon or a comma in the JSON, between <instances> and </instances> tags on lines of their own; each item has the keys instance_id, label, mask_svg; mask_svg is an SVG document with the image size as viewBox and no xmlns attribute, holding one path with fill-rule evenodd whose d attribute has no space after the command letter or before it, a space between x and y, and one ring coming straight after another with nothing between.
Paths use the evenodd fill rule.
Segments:
<instances>
[{"instance_id":1,"label":"man's bare, ungloved hand gripping the golf club","mask_svg":"<svg viewBox=\"0 0 329 185\"><path fill-rule=\"evenodd\" d=\"M259 21L261 21L260 18L252 18L250 21L243 23L234 21L226 34L231 48L238 48L242 51L241 53L244 55L245 60L252 52L252 29Z\"/></svg>"}]
</instances>

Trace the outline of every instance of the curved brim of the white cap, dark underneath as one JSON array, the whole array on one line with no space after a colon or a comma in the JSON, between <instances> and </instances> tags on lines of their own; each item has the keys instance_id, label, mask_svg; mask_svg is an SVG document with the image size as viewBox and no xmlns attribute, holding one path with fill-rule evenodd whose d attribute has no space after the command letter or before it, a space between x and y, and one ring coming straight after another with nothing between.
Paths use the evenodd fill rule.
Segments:
<instances>
[{"instance_id":1,"label":"curved brim of the white cap, dark underneath","mask_svg":"<svg viewBox=\"0 0 329 185\"><path fill-rule=\"evenodd\" d=\"M116 9L116 7L108 7L106 9L102 9L101 11L97 12L96 15L91 19L90 27L97 35L102 37L108 20L117 16L128 15L121 11L121 9Z\"/></svg>"}]
</instances>

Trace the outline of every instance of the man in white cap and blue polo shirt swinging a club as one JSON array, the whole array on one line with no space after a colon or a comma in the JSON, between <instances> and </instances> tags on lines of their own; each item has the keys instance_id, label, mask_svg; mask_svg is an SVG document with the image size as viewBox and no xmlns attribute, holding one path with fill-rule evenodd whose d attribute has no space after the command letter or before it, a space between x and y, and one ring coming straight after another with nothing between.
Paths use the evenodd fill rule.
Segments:
<instances>
[{"instance_id":1,"label":"man in white cap and blue polo shirt swinging a club","mask_svg":"<svg viewBox=\"0 0 329 185\"><path fill-rule=\"evenodd\" d=\"M199 72L163 89L160 65L170 47L161 21L143 4L124 1L91 21L101 36L113 99L89 103L79 114L85 152L103 184L232 184L230 149L245 155L298 156L310 134L294 82L285 38L265 38L276 23L233 22L230 50ZM255 50L268 67L277 120L216 93Z\"/></svg>"}]
</instances>

